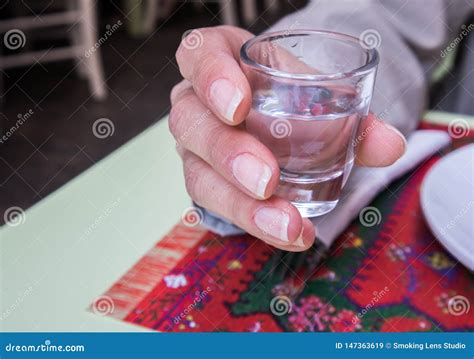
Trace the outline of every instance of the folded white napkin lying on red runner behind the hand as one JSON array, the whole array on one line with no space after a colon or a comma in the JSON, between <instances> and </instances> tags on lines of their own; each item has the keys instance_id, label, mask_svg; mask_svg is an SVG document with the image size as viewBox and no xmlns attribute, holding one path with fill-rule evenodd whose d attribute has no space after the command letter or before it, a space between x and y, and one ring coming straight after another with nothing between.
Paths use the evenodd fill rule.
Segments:
<instances>
[{"instance_id":1,"label":"folded white napkin lying on red runner behind the hand","mask_svg":"<svg viewBox=\"0 0 474 359\"><path fill-rule=\"evenodd\" d=\"M352 220L359 216L361 210L368 206L392 181L417 167L448 145L450 141L449 135L444 131L418 130L410 135L405 154L393 165L381 168L354 168L336 208L312 220L317 227L317 237L323 244L330 247ZM244 233L242 229L215 213L203 209L203 215L203 226L221 236Z\"/></svg>"}]
</instances>

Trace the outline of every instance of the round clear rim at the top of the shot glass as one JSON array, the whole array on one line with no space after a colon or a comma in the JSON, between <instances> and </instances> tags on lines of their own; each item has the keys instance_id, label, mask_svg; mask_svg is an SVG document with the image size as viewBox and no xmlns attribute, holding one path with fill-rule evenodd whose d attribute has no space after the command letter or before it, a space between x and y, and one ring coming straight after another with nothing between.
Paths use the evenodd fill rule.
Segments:
<instances>
[{"instance_id":1,"label":"round clear rim at the top of the shot glass","mask_svg":"<svg viewBox=\"0 0 474 359\"><path fill-rule=\"evenodd\" d=\"M343 40L346 42L356 43L360 46L361 50L368 55L367 62L359 67L356 67L350 71L344 72L334 72L330 74L305 74L305 73L291 73L281 70L276 70L274 68L265 66L253 59L249 56L249 49L258 42L261 42L265 39L271 38L286 38L292 36L301 36L301 35L324 35L328 38L335 38L339 40ZM339 80L345 78L351 78L356 76L361 76L369 73L372 71L377 64L379 63L379 53L378 51L373 49L366 49L360 44L360 40L354 36L343 34L340 32L334 31L326 31L326 30L313 30L313 29L296 29L296 30L284 30L284 31L274 31L274 32L267 32L261 35L257 35L247 42L245 42L242 47L240 48L240 59L241 61L250 66L254 70L264 72L271 76L286 78L286 79L295 79L295 80L310 80L310 81L327 81L327 80Z\"/></svg>"}]
</instances>

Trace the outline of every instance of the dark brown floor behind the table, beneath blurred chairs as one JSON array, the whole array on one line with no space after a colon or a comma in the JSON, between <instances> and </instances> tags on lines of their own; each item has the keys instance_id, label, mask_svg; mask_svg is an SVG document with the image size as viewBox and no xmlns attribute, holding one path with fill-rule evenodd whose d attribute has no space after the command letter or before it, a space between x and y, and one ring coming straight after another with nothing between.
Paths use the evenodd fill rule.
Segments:
<instances>
[{"instance_id":1,"label":"dark brown floor behind the table, beneath blurred chairs","mask_svg":"<svg viewBox=\"0 0 474 359\"><path fill-rule=\"evenodd\" d=\"M268 27L305 2L283 1L278 14L263 14L250 30ZM117 20L125 22L116 3L108 4L102 29ZM150 38L130 38L123 26L102 45L109 92L105 101L90 98L87 83L73 70L72 61L3 73L0 129L11 128L19 115L32 114L0 144L0 223L7 208L32 206L169 111L168 94L180 79L174 53L182 34L219 24L215 4L200 11L190 3L178 2L177 7L167 22L157 24L159 30ZM92 124L99 118L113 121L113 136L93 135Z\"/></svg>"}]
</instances>

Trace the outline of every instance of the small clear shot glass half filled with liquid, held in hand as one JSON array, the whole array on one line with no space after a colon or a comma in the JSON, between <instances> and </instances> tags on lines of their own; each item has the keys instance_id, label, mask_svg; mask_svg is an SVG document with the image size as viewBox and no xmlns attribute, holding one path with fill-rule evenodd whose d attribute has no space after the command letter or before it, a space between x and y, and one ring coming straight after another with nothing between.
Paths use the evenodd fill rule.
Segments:
<instances>
[{"instance_id":1,"label":"small clear shot glass half filled with liquid, held in hand","mask_svg":"<svg viewBox=\"0 0 474 359\"><path fill-rule=\"evenodd\" d=\"M331 211L369 111L377 51L344 34L288 30L254 37L240 57L253 94L245 126L278 161L276 195L303 217Z\"/></svg>"}]
</instances>

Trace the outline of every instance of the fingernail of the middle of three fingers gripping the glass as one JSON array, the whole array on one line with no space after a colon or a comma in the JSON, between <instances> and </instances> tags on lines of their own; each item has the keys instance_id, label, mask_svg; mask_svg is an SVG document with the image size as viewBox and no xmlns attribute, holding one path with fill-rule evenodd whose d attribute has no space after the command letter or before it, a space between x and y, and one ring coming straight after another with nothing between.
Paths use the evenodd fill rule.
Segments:
<instances>
[{"instance_id":1,"label":"fingernail of the middle of three fingers gripping the glass","mask_svg":"<svg viewBox=\"0 0 474 359\"><path fill-rule=\"evenodd\" d=\"M232 161L232 174L242 186L264 198L272 169L254 155L243 153Z\"/></svg>"}]
</instances>

